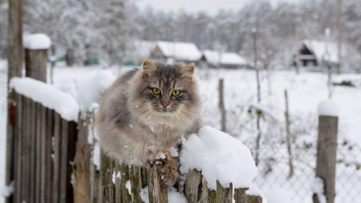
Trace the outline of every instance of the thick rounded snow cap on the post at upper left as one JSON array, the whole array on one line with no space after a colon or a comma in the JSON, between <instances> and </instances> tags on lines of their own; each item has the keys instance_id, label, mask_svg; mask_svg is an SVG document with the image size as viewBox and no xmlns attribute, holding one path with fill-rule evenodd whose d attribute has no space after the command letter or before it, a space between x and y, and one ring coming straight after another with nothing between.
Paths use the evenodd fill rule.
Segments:
<instances>
[{"instance_id":1,"label":"thick rounded snow cap on the post at upper left","mask_svg":"<svg viewBox=\"0 0 361 203\"><path fill-rule=\"evenodd\" d=\"M26 49L49 49L51 40L48 35L43 33L36 33L24 36L23 46Z\"/></svg>"}]
</instances>

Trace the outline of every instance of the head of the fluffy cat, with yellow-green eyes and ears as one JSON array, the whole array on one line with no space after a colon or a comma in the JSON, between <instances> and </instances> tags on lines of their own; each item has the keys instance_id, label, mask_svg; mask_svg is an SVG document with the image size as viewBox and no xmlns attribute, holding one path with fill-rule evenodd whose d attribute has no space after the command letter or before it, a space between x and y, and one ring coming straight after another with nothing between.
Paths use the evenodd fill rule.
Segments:
<instances>
[{"instance_id":1,"label":"head of the fluffy cat, with yellow-green eyes and ears","mask_svg":"<svg viewBox=\"0 0 361 203\"><path fill-rule=\"evenodd\" d=\"M193 63L169 65L144 60L142 66L143 73L136 81L138 91L132 92L131 98L131 102L138 104L135 113L144 119L169 116L181 120L199 113L200 97L192 78Z\"/></svg>"}]
</instances>

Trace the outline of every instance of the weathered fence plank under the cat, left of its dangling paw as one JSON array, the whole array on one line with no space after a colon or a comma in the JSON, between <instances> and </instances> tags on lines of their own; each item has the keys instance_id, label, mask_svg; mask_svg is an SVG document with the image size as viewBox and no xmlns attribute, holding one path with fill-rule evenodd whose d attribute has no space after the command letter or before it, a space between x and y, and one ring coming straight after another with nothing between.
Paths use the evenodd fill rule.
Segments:
<instances>
[{"instance_id":1,"label":"weathered fence plank under the cat, left of its dangling paw","mask_svg":"<svg viewBox=\"0 0 361 203\"><path fill-rule=\"evenodd\" d=\"M162 165L154 164L148 170L149 203L168 203L167 186L160 177Z\"/></svg>"}]
</instances>

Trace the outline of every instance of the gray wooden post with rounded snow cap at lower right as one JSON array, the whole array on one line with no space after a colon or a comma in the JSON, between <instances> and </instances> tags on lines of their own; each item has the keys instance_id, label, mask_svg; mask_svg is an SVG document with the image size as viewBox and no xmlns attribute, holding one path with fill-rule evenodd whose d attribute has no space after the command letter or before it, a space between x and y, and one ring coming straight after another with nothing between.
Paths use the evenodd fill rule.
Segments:
<instances>
[{"instance_id":1,"label":"gray wooden post with rounded snow cap at lower right","mask_svg":"<svg viewBox=\"0 0 361 203\"><path fill-rule=\"evenodd\" d=\"M335 199L335 172L338 131L338 104L332 100L325 100L318 104L318 139L316 177L323 180L323 191L326 203L333 203ZM321 202L323 194L314 193L314 203Z\"/></svg>"}]
</instances>

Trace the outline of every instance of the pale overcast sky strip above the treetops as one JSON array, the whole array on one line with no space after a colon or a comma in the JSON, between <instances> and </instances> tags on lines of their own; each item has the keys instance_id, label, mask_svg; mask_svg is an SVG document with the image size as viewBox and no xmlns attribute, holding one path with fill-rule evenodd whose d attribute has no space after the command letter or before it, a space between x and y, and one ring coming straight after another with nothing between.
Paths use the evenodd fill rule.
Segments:
<instances>
[{"instance_id":1,"label":"pale overcast sky strip above the treetops","mask_svg":"<svg viewBox=\"0 0 361 203\"><path fill-rule=\"evenodd\" d=\"M238 10L249 1L257 0L136 0L136 5L143 10L147 5L151 5L156 10L177 11L183 9L190 13L205 11L215 14L221 8ZM301 0L270 0L273 5L278 2L297 2Z\"/></svg>"}]
</instances>

